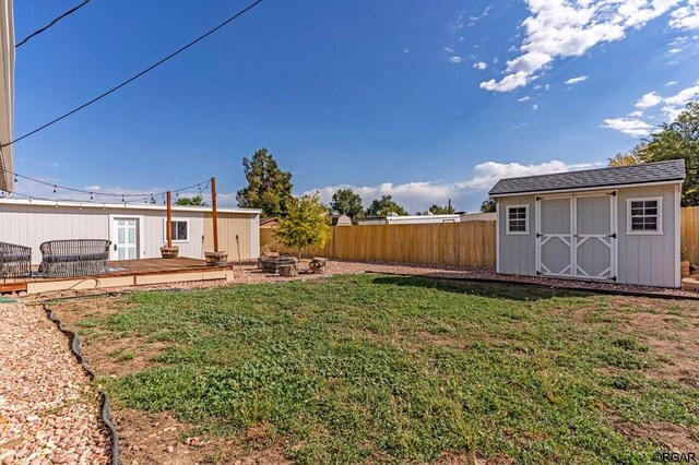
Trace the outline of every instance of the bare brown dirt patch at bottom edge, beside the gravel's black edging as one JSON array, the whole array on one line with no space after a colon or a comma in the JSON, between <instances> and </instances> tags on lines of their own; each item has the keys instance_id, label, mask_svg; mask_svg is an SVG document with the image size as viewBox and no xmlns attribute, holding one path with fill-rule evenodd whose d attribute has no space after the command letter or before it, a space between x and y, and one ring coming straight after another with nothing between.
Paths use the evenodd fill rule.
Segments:
<instances>
[{"instance_id":1,"label":"bare brown dirt patch at bottom edge, beside the gravel's black edging","mask_svg":"<svg viewBox=\"0 0 699 465\"><path fill-rule=\"evenodd\" d=\"M204 439L196 434L193 425L178 421L168 413L146 414L120 409L115 415L115 421L120 434L123 464L289 463L276 444L268 444L265 449L245 449L226 438L208 436ZM260 434L269 438L263 433L264 428L264 426L251 428L246 436L252 437L253 443Z\"/></svg>"}]
</instances>

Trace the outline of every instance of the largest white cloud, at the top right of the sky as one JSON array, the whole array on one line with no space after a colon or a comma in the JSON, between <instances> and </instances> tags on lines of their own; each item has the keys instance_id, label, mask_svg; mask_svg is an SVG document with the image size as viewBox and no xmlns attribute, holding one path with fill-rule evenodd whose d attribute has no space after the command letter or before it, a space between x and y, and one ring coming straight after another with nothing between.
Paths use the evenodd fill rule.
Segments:
<instances>
[{"instance_id":1,"label":"largest white cloud, at the top right of the sky","mask_svg":"<svg viewBox=\"0 0 699 465\"><path fill-rule=\"evenodd\" d=\"M507 62L505 78L485 81L481 88L509 92L524 86L556 58L579 57L599 44L620 40L629 28L644 26L679 1L526 0L531 15L522 22L520 56Z\"/></svg>"}]
</instances>

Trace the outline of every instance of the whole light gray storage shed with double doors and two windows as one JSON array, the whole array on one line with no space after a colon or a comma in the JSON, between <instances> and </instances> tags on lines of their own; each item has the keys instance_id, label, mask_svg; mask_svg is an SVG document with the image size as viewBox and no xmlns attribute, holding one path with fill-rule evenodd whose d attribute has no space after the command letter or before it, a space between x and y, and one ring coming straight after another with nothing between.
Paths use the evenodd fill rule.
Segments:
<instances>
[{"instance_id":1,"label":"whole light gray storage shed with double doors and two windows","mask_svg":"<svg viewBox=\"0 0 699 465\"><path fill-rule=\"evenodd\" d=\"M679 287L683 159L500 179L497 272Z\"/></svg>"}]
</instances>

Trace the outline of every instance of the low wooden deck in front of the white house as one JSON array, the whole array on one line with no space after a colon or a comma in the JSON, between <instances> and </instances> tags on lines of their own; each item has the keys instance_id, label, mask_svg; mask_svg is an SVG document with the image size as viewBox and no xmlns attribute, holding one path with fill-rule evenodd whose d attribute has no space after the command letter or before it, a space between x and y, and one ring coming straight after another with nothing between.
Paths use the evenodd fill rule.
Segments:
<instances>
[{"instance_id":1,"label":"low wooden deck in front of the white house","mask_svg":"<svg viewBox=\"0 0 699 465\"><path fill-rule=\"evenodd\" d=\"M109 262L109 273L96 276L0 279L0 294L46 293L68 289L96 289L106 287L142 286L192 281L233 279L232 266L208 266L204 260L140 259Z\"/></svg>"}]
</instances>

